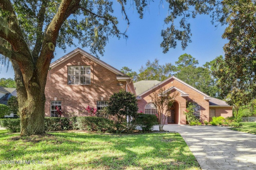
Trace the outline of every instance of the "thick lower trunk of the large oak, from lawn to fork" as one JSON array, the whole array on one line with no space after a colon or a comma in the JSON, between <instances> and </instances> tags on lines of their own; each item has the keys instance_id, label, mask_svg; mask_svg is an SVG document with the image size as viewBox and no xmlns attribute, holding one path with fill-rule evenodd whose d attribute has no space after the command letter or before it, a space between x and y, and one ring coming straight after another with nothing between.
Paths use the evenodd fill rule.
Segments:
<instances>
[{"instance_id":1,"label":"thick lower trunk of the large oak, from lawn to fork","mask_svg":"<svg viewBox=\"0 0 256 170\"><path fill-rule=\"evenodd\" d=\"M19 64L12 61L17 85L20 115L20 135L30 136L44 134L44 88L47 71L38 73L37 69L21 72ZM32 75L28 77L27 75Z\"/></svg>"}]
</instances>

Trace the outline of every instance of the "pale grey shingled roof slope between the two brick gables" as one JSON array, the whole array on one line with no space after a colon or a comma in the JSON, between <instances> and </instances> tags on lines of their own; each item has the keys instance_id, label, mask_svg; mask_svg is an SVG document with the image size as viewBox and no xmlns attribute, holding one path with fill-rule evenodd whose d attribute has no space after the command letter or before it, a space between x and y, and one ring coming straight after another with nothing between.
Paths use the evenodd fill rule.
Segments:
<instances>
[{"instance_id":1,"label":"pale grey shingled roof slope between the two brick gables","mask_svg":"<svg viewBox=\"0 0 256 170\"><path fill-rule=\"evenodd\" d=\"M160 83L160 81L157 81L157 80L141 80L139 82L133 83L133 85L135 87L136 94L141 94L141 93L145 92L146 90L148 90L149 88L157 85L158 83Z\"/></svg>"}]
</instances>

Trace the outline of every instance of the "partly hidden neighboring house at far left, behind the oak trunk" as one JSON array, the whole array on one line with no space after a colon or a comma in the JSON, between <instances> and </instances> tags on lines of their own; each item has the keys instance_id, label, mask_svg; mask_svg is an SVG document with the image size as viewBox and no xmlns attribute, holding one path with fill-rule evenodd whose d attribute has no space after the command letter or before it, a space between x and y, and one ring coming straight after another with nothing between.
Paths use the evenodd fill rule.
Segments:
<instances>
[{"instance_id":1,"label":"partly hidden neighboring house at far left, behind the oak trunk","mask_svg":"<svg viewBox=\"0 0 256 170\"><path fill-rule=\"evenodd\" d=\"M0 104L7 105L7 101L12 95L17 97L16 88L6 88L6 87L0 86ZM5 117L18 117L18 116L17 114L11 113L9 116L5 116Z\"/></svg>"}]
</instances>

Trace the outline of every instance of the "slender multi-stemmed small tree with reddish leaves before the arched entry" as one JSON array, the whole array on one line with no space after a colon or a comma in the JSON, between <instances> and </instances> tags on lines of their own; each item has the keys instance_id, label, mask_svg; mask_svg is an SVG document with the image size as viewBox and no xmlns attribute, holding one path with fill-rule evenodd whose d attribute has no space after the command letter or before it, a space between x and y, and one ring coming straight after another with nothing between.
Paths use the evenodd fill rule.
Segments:
<instances>
[{"instance_id":1,"label":"slender multi-stemmed small tree with reddish leaves before the arched entry","mask_svg":"<svg viewBox=\"0 0 256 170\"><path fill-rule=\"evenodd\" d=\"M165 91L165 88L161 87L158 90L154 90L152 94L149 95L158 113L158 125L160 131L163 131L167 112L175 102L174 99L177 96L175 92L172 95L171 93L171 91Z\"/></svg>"}]
</instances>

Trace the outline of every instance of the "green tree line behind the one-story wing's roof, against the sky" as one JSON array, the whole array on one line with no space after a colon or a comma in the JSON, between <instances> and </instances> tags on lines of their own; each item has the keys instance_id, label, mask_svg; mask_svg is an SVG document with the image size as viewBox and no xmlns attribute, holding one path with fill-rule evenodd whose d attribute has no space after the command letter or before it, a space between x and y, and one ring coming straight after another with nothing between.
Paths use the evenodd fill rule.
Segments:
<instances>
[{"instance_id":1,"label":"green tree line behind the one-story wing's roof, against the sky","mask_svg":"<svg viewBox=\"0 0 256 170\"><path fill-rule=\"evenodd\" d=\"M190 54L183 54L175 62L159 64L159 60L147 61L145 66L141 66L139 73L132 71L128 67L123 67L121 71L130 77L134 82L140 80L158 80L164 81L170 76L175 76L198 90L218 99L224 99L220 96L220 89L217 87L218 78L213 75L218 70L217 60L223 60L222 56L216 57L210 62L206 62L202 67L198 67L198 61Z\"/></svg>"}]
</instances>

